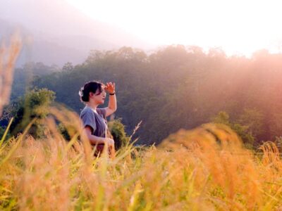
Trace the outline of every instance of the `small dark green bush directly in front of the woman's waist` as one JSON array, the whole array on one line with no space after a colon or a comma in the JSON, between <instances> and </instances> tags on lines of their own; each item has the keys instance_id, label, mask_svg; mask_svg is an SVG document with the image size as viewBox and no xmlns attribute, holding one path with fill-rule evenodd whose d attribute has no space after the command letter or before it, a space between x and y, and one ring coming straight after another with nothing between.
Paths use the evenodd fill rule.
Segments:
<instances>
[{"instance_id":1,"label":"small dark green bush directly in front of the woman's waist","mask_svg":"<svg viewBox=\"0 0 282 211\"><path fill-rule=\"evenodd\" d=\"M125 133L125 126L121 123L121 119L109 122L109 130L114 138L116 149L127 145L130 141Z\"/></svg>"}]
</instances>

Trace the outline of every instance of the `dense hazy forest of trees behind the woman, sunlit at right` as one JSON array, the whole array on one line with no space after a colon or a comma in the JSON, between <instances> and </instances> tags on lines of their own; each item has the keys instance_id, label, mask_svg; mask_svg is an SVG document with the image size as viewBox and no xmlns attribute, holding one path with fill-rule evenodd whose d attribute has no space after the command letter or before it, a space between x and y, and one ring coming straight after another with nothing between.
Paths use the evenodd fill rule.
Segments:
<instances>
[{"instance_id":1,"label":"dense hazy forest of trees behind the woman, sunlit at right","mask_svg":"<svg viewBox=\"0 0 282 211\"><path fill-rule=\"evenodd\" d=\"M178 129L207 122L228 124L251 146L282 134L282 54L265 50L246 58L197 46L150 54L123 47L91 51L84 63L63 68L29 63L16 69L12 102L25 90L47 88L79 113L84 105L78 90L93 79L116 82L115 118L128 134L142 121L135 134L140 144L160 143Z\"/></svg>"}]
</instances>

